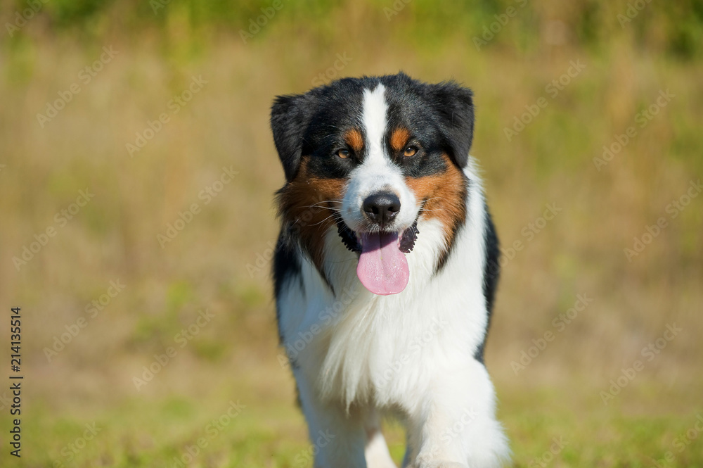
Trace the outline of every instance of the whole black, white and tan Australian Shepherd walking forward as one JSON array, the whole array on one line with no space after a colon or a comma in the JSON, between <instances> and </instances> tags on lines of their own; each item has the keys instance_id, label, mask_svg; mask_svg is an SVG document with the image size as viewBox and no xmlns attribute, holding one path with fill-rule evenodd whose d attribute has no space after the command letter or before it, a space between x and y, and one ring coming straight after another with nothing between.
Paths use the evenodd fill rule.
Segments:
<instances>
[{"instance_id":1,"label":"whole black, white and tan Australian Shepherd walking forward","mask_svg":"<svg viewBox=\"0 0 703 468\"><path fill-rule=\"evenodd\" d=\"M484 344L498 239L469 155L472 91L407 75L278 96L280 341L320 468L500 466Z\"/></svg>"}]
</instances>

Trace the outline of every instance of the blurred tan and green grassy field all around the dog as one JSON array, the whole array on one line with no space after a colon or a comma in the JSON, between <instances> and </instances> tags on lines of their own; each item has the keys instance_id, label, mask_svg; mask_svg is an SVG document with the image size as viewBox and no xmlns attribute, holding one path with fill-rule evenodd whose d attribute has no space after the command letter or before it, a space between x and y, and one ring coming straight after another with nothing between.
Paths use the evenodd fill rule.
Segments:
<instances>
[{"instance_id":1,"label":"blurred tan and green grassy field all around the dog","mask_svg":"<svg viewBox=\"0 0 703 468\"><path fill-rule=\"evenodd\" d=\"M8 455L11 394L0 390L0 465L172 467L205 437L189 466L311 466L276 348L266 259L283 171L269 106L318 80L404 70L475 91L472 154L505 253L522 241L503 267L486 351L515 466L703 466L703 197L670 205L703 172L703 4L272 5L0 3L0 298L6 315L22 307L25 375L21 459ZM275 12L265 24L261 8ZM117 54L86 82L82 70L110 46ZM586 67L553 96L546 87L572 61ZM193 77L207 83L172 106ZM39 122L72 85L79 93ZM671 101L640 127L638 113L667 89ZM541 97L548 106L508 141L505 128ZM127 144L162 113L169 121L130 156ZM598 170L593 158L631 126L636 136ZM218 185L223 167L238 175ZM57 220L86 189L91 201ZM162 248L157 235L193 203L198 213ZM560 213L543 224L554 203ZM666 228L628 261L624 249L659 217ZM16 266L49 227L56 234ZM124 289L89 312L111 281ZM577 294L593 302L557 331ZM200 310L214 318L180 348ZM80 317L85 326L47 358ZM683 331L647 360L667 324ZM516 375L511 362L546 331L555 339ZM9 367L8 317L0 334ZM137 389L134 377L169 346L177 354ZM604 405L600 392L636 360L644 369ZM210 437L231 400L243 410ZM100 431L81 442L93 423ZM387 429L399 460L401 429ZM567 444L550 455L553 438ZM657 462L667 451L673 460Z\"/></svg>"}]
</instances>

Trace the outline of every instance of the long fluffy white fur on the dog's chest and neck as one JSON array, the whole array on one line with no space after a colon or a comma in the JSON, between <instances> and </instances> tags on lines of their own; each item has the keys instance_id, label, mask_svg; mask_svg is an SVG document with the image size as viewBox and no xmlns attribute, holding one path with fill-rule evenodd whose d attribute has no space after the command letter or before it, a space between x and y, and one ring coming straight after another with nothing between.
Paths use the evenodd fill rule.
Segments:
<instances>
[{"instance_id":1,"label":"long fluffy white fur on the dog's chest and neck","mask_svg":"<svg viewBox=\"0 0 703 468\"><path fill-rule=\"evenodd\" d=\"M307 259L302 262L303 289L295 280L281 293L284 346L316 383L321 398L347 406L371 399L380 406L408 402L413 393L424 393L437 367L451 369L475 353L487 320L485 213L470 170L467 223L439 274L434 275L434 267L444 226L421 219L417 244L408 254L410 282L402 293L376 296L364 289L356 278L356 254L331 230L325 273L335 293Z\"/></svg>"}]
</instances>

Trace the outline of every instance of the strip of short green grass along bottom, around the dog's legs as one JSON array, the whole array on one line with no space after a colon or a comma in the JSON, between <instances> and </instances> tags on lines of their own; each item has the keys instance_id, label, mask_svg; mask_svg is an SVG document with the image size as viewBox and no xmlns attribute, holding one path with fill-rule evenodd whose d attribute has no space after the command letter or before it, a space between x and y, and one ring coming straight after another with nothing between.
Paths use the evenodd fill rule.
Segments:
<instances>
[{"instance_id":1,"label":"strip of short green grass along bottom, around the dog's legs","mask_svg":"<svg viewBox=\"0 0 703 468\"><path fill-rule=\"evenodd\" d=\"M14 461L19 467L157 468L174 466L174 457L189 461L193 454L193 467L311 466L304 421L292 400L257 398L250 391L221 385L211 388L207 398L171 394L89 407L75 402L74 408L55 411L49 411L48 402L34 403L22 426L22 459ZM498 386L514 467L650 468L667 452L675 458L665 467L703 466L703 437L694 429L697 417L703 421L703 405L690 396L646 384L631 389L621 402L626 405L605 408L597 392L574 386L567 386L569 391L515 388L507 393ZM240 412L212 424L225 414L230 392L245 395L234 398ZM660 405L656 415L644 414L652 393L671 399L671 406ZM93 423L96 436L73 450L82 446L86 424ZM5 414L0 424L7 426ZM385 433L400 462L401 427L389 421ZM199 439L203 448L197 448ZM6 450L0 460L8 466Z\"/></svg>"}]
</instances>

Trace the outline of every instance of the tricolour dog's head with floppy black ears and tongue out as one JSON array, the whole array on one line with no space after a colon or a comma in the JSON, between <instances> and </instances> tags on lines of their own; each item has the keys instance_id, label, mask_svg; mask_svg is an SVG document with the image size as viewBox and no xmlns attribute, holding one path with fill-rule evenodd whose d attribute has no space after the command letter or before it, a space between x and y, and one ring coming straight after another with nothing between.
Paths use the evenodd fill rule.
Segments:
<instances>
[{"instance_id":1,"label":"tricolour dog's head with floppy black ears and tongue out","mask_svg":"<svg viewBox=\"0 0 703 468\"><path fill-rule=\"evenodd\" d=\"M418 219L444 225L439 267L465 220L473 127L469 89L402 73L278 96L271 129L286 178L285 228L323 275L325 234L335 229L359 253L356 272L369 291L403 291Z\"/></svg>"}]
</instances>

